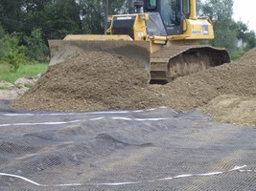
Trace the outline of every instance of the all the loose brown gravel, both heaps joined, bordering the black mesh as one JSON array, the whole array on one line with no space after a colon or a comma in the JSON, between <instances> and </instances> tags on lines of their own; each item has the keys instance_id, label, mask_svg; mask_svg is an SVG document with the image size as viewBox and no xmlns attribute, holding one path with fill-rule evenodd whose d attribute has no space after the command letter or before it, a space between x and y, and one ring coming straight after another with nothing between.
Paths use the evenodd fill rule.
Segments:
<instances>
[{"instance_id":1,"label":"all the loose brown gravel, both heaps joined, bordering the black mesh","mask_svg":"<svg viewBox=\"0 0 256 191\"><path fill-rule=\"evenodd\" d=\"M252 50L236 62L178 77L167 85L149 85L149 74L141 63L121 55L90 52L50 67L13 106L56 111L200 108L221 121L256 124L255 62L256 50ZM217 107L220 100L234 97L237 101L231 101L229 109ZM241 105L246 107L247 99L250 109L239 110ZM232 116L234 107L236 114Z\"/></svg>"}]
</instances>

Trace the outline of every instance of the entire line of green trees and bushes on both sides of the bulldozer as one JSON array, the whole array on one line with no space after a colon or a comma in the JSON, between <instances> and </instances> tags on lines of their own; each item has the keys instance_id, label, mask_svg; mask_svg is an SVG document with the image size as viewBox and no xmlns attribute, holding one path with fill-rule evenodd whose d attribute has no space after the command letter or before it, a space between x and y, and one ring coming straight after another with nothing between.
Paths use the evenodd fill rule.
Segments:
<instances>
[{"instance_id":1,"label":"entire line of green trees and bushes on both sides of the bulldozer","mask_svg":"<svg viewBox=\"0 0 256 191\"><path fill-rule=\"evenodd\" d=\"M47 60L48 39L104 33L104 8L105 0L1 0L0 60ZM127 12L128 0L108 0L109 14ZM255 33L232 19L233 0L198 0L198 12L213 21L216 38L209 44L228 49L234 57L256 46Z\"/></svg>"}]
</instances>

